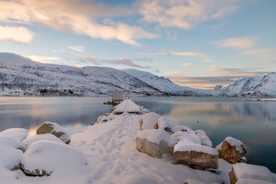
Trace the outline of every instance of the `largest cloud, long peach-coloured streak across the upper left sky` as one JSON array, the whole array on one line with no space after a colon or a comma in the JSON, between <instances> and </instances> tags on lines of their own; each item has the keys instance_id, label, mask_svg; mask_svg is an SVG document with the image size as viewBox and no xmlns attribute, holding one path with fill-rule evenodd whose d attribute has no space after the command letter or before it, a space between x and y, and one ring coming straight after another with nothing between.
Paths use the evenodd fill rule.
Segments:
<instances>
[{"instance_id":1,"label":"largest cloud, long peach-coloured streak across the upper left sky","mask_svg":"<svg viewBox=\"0 0 276 184\"><path fill-rule=\"evenodd\" d=\"M71 30L75 34L103 40L117 39L130 45L140 45L137 39L159 37L139 26L130 26L126 23L97 23L99 18L126 15L130 11L124 7L103 6L86 0L0 1L0 12L0 21L3 22L39 23L55 30Z\"/></svg>"}]
</instances>

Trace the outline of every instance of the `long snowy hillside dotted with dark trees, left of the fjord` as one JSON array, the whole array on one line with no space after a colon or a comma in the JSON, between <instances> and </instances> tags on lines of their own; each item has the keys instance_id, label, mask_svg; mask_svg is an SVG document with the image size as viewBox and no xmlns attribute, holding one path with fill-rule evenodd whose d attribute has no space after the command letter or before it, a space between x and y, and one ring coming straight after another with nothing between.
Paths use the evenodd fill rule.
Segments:
<instances>
[{"instance_id":1,"label":"long snowy hillside dotted with dark trees, left of the fjord","mask_svg":"<svg viewBox=\"0 0 276 184\"><path fill-rule=\"evenodd\" d=\"M126 72L113 68L37 63L0 52L0 96L97 96L124 90L131 94L162 94Z\"/></svg>"}]
</instances>

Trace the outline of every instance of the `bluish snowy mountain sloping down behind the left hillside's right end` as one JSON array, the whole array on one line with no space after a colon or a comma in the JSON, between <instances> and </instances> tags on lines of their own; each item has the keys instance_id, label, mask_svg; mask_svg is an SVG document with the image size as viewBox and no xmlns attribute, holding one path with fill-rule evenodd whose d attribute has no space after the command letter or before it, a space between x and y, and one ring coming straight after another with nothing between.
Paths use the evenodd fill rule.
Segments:
<instances>
[{"instance_id":1,"label":"bluish snowy mountain sloping down behind the left hillside's right end","mask_svg":"<svg viewBox=\"0 0 276 184\"><path fill-rule=\"evenodd\" d=\"M157 88L161 92L164 92L173 96L212 96L215 95L213 92L208 92L206 90L199 90L195 88L189 88L186 86L180 86L172 83L169 79L163 76L156 76L150 72L144 72L136 69L125 69L124 72L137 77L141 81L148 83L153 88Z\"/></svg>"}]
</instances>

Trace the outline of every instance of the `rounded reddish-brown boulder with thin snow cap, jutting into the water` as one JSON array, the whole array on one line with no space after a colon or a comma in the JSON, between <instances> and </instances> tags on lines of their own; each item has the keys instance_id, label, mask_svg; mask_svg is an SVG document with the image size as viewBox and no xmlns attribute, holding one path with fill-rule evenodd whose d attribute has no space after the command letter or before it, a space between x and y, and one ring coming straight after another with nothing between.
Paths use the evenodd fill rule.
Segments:
<instances>
[{"instance_id":1,"label":"rounded reddish-brown boulder with thin snow cap, jutting into the water","mask_svg":"<svg viewBox=\"0 0 276 184\"><path fill-rule=\"evenodd\" d=\"M244 143L231 136L226 137L224 142L217 145L216 149L219 151L219 158L228 163L237 163L246 154Z\"/></svg>"}]
</instances>

